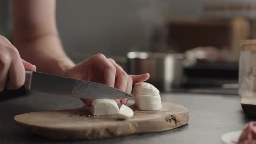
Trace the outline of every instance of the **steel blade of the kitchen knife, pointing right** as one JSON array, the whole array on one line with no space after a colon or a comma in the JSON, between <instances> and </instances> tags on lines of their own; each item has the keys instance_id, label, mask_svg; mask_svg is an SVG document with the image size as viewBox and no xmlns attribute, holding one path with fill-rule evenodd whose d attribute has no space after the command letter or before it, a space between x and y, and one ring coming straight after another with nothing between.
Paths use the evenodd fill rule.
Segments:
<instances>
[{"instance_id":1,"label":"steel blade of the kitchen knife, pointing right","mask_svg":"<svg viewBox=\"0 0 256 144\"><path fill-rule=\"evenodd\" d=\"M108 85L31 71L26 71L25 88L75 98L120 99L133 97Z\"/></svg>"}]
</instances>

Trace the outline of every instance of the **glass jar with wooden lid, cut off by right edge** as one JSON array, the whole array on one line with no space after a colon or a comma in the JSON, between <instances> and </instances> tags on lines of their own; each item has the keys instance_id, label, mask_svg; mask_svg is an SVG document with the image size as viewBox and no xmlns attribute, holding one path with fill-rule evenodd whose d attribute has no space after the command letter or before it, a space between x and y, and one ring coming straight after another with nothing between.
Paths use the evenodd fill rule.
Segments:
<instances>
[{"instance_id":1,"label":"glass jar with wooden lid, cut off by right edge","mask_svg":"<svg viewBox=\"0 0 256 144\"><path fill-rule=\"evenodd\" d=\"M256 97L256 39L240 43L239 89L241 97Z\"/></svg>"}]
</instances>

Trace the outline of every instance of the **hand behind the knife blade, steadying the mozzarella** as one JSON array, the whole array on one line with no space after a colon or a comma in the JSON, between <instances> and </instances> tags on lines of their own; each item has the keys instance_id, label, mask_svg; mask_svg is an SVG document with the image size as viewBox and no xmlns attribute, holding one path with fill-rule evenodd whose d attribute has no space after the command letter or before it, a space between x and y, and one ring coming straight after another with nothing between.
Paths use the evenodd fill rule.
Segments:
<instances>
[{"instance_id":1,"label":"hand behind the knife blade, steadying the mozzarella","mask_svg":"<svg viewBox=\"0 0 256 144\"><path fill-rule=\"evenodd\" d=\"M148 80L149 74L128 75L113 59L97 54L64 72L64 76L102 83L131 94L132 84ZM81 99L91 105L91 99ZM126 104L128 99L116 99L117 104Z\"/></svg>"}]
</instances>

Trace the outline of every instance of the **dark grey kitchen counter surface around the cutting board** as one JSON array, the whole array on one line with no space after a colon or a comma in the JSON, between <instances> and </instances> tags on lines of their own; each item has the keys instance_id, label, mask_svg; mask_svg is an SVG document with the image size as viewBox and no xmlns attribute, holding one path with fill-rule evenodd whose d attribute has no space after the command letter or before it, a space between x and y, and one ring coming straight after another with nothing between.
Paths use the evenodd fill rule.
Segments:
<instances>
[{"instance_id":1,"label":"dark grey kitchen counter surface around the cutting board","mask_svg":"<svg viewBox=\"0 0 256 144\"><path fill-rule=\"evenodd\" d=\"M77 98L33 92L0 101L0 144L220 144L222 134L241 130L246 122L256 120L245 117L237 95L161 93L161 97L162 101L187 107L190 111L189 123L170 131L85 141L49 140L30 133L13 121L15 115L27 112L82 107L82 102Z\"/></svg>"}]
</instances>

